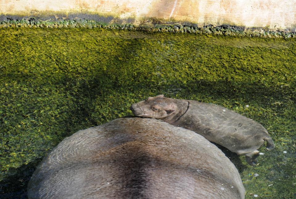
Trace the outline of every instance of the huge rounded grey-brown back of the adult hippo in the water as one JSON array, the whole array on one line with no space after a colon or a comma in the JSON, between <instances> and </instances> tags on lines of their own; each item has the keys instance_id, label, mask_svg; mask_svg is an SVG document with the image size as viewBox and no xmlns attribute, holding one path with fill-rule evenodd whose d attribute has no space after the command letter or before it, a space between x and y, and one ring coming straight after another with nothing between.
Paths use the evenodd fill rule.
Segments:
<instances>
[{"instance_id":1,"label":"huge rounded grey-brown back of the adult hippo in the water","mask_svg":"<svg viewBox=\"0 0 296 199\"><path fill-rule=\"evenodd\" d=\"M231 161L190 130L121 118L65 138L38 166L29 198L244 198Z\"/></svg>"}]
</instances>

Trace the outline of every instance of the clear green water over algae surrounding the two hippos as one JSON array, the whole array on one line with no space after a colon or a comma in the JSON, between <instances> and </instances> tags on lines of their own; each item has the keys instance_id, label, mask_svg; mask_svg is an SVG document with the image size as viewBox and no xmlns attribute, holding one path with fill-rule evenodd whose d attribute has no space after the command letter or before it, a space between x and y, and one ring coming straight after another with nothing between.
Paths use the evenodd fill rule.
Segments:
<instances>
[{"instance_id":1,"label":"clear green water over algae surrounding the two hippos","mask_svg":"<svg viewBox=\"0 0 296 199\"><path fill-rule=\"evenodd\" d=\"M63 138L157 94L261 123L276 147L262 146L257 166L224 152L246 198L296 197L295 39L8 28L0 52L1 198L26 197L36 165Z\"/></svg>"}]
</instances>

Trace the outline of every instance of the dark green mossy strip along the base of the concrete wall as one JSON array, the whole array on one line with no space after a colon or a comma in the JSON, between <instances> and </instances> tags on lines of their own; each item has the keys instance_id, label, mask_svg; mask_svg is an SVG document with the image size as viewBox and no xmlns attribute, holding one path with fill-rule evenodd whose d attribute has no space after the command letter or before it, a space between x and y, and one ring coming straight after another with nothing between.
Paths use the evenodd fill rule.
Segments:
<instances>
[{"instance_id":1,"label":"dark green mossy strip along the base of the concrete wall","mask_svg":"<svg viewBox=\"0 0 296 199\"><path fill-rule=\"evenodd\" d=\"M139 25L134 25L135 19L119 19L114 16L98 16L90 14L73 14L62 17L63 15L50 15L40 17L27 16L0 16L0 28L105 28L105 29L125 29L139 30L144 32L173 32L173 33L192 33L228 36L246 36L263 38L294 38L296 32L270 31L267 27L245 28L232 25L205 25L198 26L194 23L183 21L160 21L158 19L143 19ZM78 17L75 17L77 16ZM55 18L56 17L56 18ZM69 18L70 17L70 18ZM79 18L80 17L80 18ZM96 20L94 20L96 19ZM149 23L147 23L149 22Z\"/></svg>"}]
</instances>

